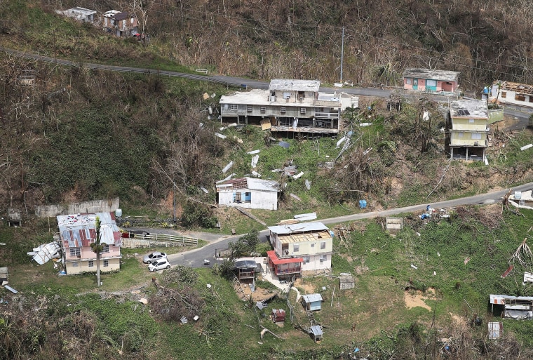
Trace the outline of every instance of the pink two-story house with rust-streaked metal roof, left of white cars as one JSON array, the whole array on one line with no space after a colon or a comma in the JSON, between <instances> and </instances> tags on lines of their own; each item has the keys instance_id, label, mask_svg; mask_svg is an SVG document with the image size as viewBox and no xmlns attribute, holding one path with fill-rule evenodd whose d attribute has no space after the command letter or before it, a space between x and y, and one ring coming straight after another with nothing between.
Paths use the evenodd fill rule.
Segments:
<instances>
[{"instance_id":1,"label":"pink two-story house with rust-streaked metal roof, left of white cars","mask_svg":"<svg viewBox=\"0 0 533 360\"><path fill-rule=\"evenodd\" d=\"M96 272L96 254L90 244L96 238L97 216L101 223L100 242L104 245L100 254L100 270L111 272L120 269L121 233L116 226L114 213L58 215L62 261L67 274Z\"/></svg>"}]
</instances>

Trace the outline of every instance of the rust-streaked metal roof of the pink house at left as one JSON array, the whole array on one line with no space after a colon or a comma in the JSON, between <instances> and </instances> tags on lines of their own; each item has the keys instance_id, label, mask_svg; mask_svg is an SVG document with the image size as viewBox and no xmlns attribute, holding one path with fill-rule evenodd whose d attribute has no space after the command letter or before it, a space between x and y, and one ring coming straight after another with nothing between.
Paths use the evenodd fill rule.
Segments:
<instances>
[{"instance_id":1,"label":"rust-streaked metal roof of the pink house at left","mask_svg":"<svg viewBox=\"0 0 533 360\"><path fill-rule=\"evenodd\" d=\"M95 221L100 218L100 242L121 244L121 233L116 226L114 213L58 215L58 228L65 248L90 246L96 238Z\"/></svg>"}]
</instances>

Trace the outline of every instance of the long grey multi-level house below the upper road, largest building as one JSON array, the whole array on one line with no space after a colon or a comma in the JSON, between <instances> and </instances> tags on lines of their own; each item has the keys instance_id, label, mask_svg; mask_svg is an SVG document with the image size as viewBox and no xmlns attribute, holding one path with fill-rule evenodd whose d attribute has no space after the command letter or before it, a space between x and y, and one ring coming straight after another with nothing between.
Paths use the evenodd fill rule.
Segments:
<instances>
[{"instance_id":1,"label":"long grey multi-level house below the upper road, largest building","mask_svg":"<svg viewBox=\"0 0 533 360\"><path fill-rule=\"evenodd\" d=\"M358 107L346 93L321 93L321 81L273 79L268 90L238 91L220 98L221 122L267 124L271 131L339 132L341 112Z\"/></svg>"}]
</instances>

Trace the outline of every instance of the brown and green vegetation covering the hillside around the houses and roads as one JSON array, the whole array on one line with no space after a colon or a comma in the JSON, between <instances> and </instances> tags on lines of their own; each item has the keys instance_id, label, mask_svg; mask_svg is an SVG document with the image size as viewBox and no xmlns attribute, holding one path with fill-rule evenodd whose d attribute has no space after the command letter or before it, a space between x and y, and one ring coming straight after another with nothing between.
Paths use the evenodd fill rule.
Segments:
<instances>
[{"instance_id":1,"label":"brown and green vegetation covering the hillside around the houses and roads","mask_svg":"<svg viewBox=\"0 0 533 360\"><path fill-rule=\"evenodd\" d=\"M55 13L72 6L132 11L148 40L119 39L101 25ZM331 300L321 318L331 333L320 347L289 323L272 328L284 342L263 342L258 328L248 333L258 321L267 322L216 270L191 274L180 268L157 276L161 290L135 253L126 251L121 272L104 276L104 291L95 293L93 276L58 278L51 275L52 264L36 267L26 255L52 239L50 222L33 216L35 206L114 196L128 214L168 219L177 199L180 225L199 229L220 222L222 229L210 231L248 232L255 224L212 205L215 181L225 177L222 168L234 161L231 172L250 173L247 152L254 149L261 149L256 170L262 178L283 183L280 210L257 212L268 225L294 213L355 213L362 198L380 210L532 181L532 157L520 151L533 142L529 129L493 124L489 166L450 162L443 107L425 97L405 103L401 112L387 111L384 99L361 97L363 111L343 114L343 131L352 132L353 145L339 156L335 138L283 139L285 148L257 126L221 130L218 100L235 89L157 74L205 68L266 81L332 83L339 79L344 28L343 77L356 86L398 86L405 67L460 71L464 89L494 79L531 83L528 1L13 0L2 4L0 15L4 48L76 63L65 67L0 51L0 213L20 208L25 225L0 225L0 242L7 244L0 246L0 266L10 267L22 293L0 293L9 298L0 303L0 359L352 359L356 347L372 359L443 359L450 355L441 347L447 336L453 338L452 359L531 358L529 322L506 321L508 337L489 342L485 323L482 330L452 321L472 319L470 305L487 314L490 292L533 295L520 280L529 265L500 277L529 236L529 211L460 208L451 211L450 222L410 219L396 236L384 231L383 219L356 224L345 244L335 239L332 263L336 273L357 274L358 288L339 294L326 277L306 279L305 286L326 288ZM109 72L89 69L88 62L155 71ZM28 75L32 85L22 84L21 76ZM431 121L423 121L424 110ZM288 162L305 177L272 172ZM414 263L418 272L410 267ZM141 288L149 307L139 304L134 288ZM432 289L433 312L407 311L406 289L426 295ZM191 304L201 320L178 324L177 313L166 310L175 302L158 298L165 291ZM184 294L191 298L180 298Z\"/></svg>"}]
</instances>

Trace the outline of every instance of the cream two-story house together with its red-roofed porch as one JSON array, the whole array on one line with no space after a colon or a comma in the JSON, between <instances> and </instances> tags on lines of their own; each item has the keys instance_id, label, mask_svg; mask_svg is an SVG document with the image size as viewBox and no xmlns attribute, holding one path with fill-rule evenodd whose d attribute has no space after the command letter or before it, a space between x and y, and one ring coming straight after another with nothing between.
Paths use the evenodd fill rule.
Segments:
<instances>
[{"instance_id":1,"label":"cream two-story house together with its red-roofed porch","mask_svg":"<svg viewBox=\"0 0 533 360\"><path fill-rule=\"evenodd\" d=\"M331 268L333 237L322 222L271 226L269 230L274 250L267 251L268 262L276 276L283 279Z\"/></svg>"}]
</instances>

